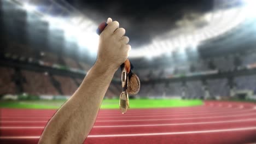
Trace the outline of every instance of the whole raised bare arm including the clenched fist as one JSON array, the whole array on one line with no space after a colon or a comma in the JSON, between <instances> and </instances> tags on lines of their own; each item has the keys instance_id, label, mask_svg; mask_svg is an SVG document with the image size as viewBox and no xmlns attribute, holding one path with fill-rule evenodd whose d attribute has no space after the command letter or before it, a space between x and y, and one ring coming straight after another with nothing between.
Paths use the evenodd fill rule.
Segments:
<instances>
[{"instance_id":1,"label":"whole raised bare arm including the clenched fist","mask_svg":"<svg viewBox=\"0 0 256 144\"><path fill-rule=\"evenodd\" d=\"M100 35L98 57L94 66L72 97L46 125L39 143L83 143L95 123L98 110L115 71L131 50L125 29L108 19Z\"/></svg>"}]
</instances>

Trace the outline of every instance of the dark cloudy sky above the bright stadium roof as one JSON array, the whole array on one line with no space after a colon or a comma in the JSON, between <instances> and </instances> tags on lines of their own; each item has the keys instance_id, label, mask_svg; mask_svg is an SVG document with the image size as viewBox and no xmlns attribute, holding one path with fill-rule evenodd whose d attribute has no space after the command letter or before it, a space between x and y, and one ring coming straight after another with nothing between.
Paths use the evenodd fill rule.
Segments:
<instances>
[{"instance_id":1,"label":"dark cloudy sky above the bright stadium roof","mask_svg":"<svg viewBox=\"0 0 256 144\"><path fill-rule=\"evenodd\" d=\"M185 14L205 13L213 8L213 0L66 1L97 23L107 17L119 21L133 45L146 44L155 35L170 31Z\"/></svg>"}]
</instances>

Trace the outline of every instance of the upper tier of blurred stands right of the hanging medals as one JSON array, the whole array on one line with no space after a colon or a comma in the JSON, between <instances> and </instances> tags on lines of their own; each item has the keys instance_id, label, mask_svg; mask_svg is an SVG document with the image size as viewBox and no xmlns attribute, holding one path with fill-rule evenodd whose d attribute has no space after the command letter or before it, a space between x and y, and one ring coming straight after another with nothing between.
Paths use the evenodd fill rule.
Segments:
<instances>
[{"instance_id":1,"label":"upper tier of blurred stands right of the hanging medals","mask_svg":"<svg viewBox=\"0 0 256 144\"><path fill-rule=\"evenodd\" d=\"M254 64L256 64L256 50L249 50L243 53L227 53L225 56L190 59L185 62L175 61L170 65L155 69L153 67L150 70L148 68L138 69L136 73L142 79L150 80L212 70L217 70L218 73L232 72Z\"/></svg>"}]
</instances>

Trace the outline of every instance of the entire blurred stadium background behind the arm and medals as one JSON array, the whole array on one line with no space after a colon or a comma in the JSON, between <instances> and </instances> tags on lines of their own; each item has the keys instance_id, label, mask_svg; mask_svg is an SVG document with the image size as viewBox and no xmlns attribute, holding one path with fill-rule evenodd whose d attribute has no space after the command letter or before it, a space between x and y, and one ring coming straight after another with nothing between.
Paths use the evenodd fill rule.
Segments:
<instances>
[{"instance_id":1,"label":"entire blurred stadium background behind the arm and medals","mask_svg":"<svg viewBox=\"0 0 256 144\"><path fill-rule=\"evenodd\" d=\"M134 6L136 1L127 5L135 9L133 16L143 7L144 19L141 14L131 19L114 3L121 9L126 1L109 2L108 7L120 15L104 14L100 4L91 2L0 1L0 143L38 142L50 116L73 95L94 65L96 29L107 14L120 19L131 39L129 59L141 89L130 95L130 113L120 116L115 110L122 91L121 70L117 70L85 143L256 142L254 0L200 0L198 5L148 2L153 11L155 7L153 20L142 4ZM176 15L169 9L161 11L167 7L175 9ZM166 14L161 17L162 13ZM144 118L136 119L139 115ZM25 122L25 117L35 123ZM104 117L118 122L103 124ZM205 125L197 127L199 123ZM216 138L222 135L222 140Z\"/></svg>"}]
</instances>

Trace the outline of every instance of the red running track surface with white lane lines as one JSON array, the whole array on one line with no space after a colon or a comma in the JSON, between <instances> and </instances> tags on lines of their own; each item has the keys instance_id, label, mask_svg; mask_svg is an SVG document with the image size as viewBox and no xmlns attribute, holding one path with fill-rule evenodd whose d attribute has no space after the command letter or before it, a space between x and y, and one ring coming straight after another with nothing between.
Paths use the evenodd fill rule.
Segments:
<instances>
[{"instance_id":1,"label":"red running track surface with white lane lines","mask_svg":"<svg viewBox=\"0 0 256 144\"><path fill-rule=\"evenodd\" d=\"M56 110L1 109L0 143L37 143ZM256 105L205 101L203 106L100 110L84 143L253 143Z\"/></svg>"}]
</instances>

